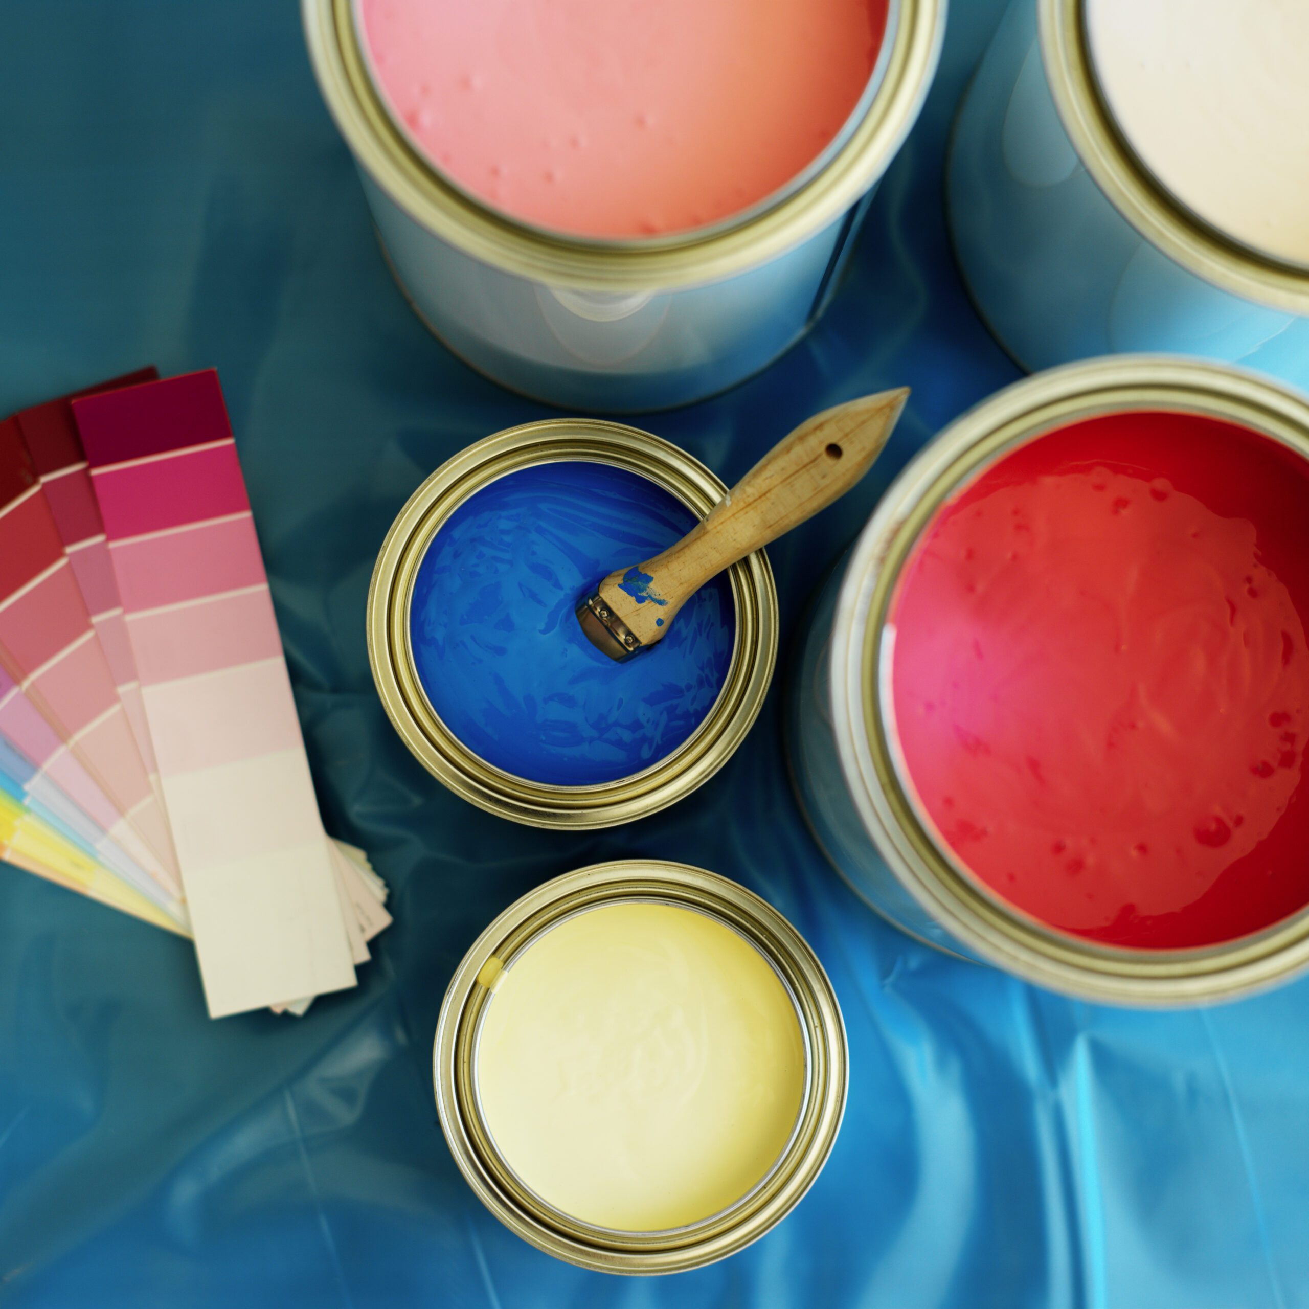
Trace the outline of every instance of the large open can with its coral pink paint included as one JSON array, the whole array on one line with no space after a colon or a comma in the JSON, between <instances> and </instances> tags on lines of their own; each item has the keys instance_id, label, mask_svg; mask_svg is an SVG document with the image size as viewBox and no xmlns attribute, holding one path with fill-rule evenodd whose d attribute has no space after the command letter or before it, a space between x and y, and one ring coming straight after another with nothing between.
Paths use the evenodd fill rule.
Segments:
<instances>
[{"instance_id":1,"label":"large open can with its coral pink paint included","mask_svg":"<svg viewBox=\"0 0 1309 1309\"><path fill-rule=\"evenodd\" d=\"M568 408L724 390L817 322L945 0L302 0L423 321Z\"/></svg>"}]
</instances>

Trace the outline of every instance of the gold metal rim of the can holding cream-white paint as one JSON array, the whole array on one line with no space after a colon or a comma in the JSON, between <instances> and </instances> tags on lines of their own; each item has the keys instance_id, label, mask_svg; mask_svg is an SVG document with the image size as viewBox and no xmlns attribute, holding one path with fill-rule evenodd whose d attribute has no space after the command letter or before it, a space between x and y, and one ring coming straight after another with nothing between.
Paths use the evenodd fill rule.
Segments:
<instances>
[{"instance_id":1,"label":"gold metal rim of the can holding cream-white paint","mask_svg":"<svg viewBox=\"0 0 1309 1309\"><path fill-rule=\"evenodd\" d=\"M1309 268L1262 254L1208 224L1136 157L1096 82L1085 0L1037 0L1041 60L1055 109L1092 179L1156 249L1245 300L1309 314Z\"/></svg>"}]
</instances>

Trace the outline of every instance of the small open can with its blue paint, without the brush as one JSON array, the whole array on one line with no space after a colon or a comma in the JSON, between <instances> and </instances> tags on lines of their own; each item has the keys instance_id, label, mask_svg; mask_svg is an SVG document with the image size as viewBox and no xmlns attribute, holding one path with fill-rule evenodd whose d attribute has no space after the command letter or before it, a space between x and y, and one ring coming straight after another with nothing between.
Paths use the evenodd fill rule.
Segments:
<instances>
[{"instance_id":1,"label":"small open can with its blue paint, without the brush","mask_svg":"<svg viewBox=\"0 0 1309 1309\"><path fill-rule=\"evenodd\" d=\"M511 428L444 463L391 526L368 597L373 678L404 744L457 795L537 827L630 822L704 783L772 678L767 556L720 573L622 664L573 607L725 493L685 450L589 419Z\"/></svg>"}]
</instances>

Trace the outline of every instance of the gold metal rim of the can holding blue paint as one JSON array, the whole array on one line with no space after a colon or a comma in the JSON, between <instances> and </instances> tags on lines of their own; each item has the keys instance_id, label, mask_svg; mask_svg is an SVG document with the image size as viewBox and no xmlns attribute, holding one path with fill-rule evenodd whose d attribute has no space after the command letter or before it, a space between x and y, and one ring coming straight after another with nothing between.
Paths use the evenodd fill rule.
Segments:
<instances>
[{"instance_id":1,"label":"gold metal rim of the can holding blue paint","mask_svg":"<svg viewBox=\"0 0 1309 1309\"><path fill-rule=\"evenodd\" d=\"M618 423L551 419L488 436L441 465L395 518L369 589L368 651L378 694L395 730L456 795L529 826L607 827L674 804L732 757L758 716L772 679L778 593L763 551L728 569L734 634L721 687L694 733L651 767L597 784L558 785L514 776L488 762L441 720L423 689L412 643L415 580L437 533L471 496L509 474L568 462L636 474L696 518L706 517L726 493L726 486L685 450ZM569 598L569 609L576 598Z\"/></svg>"}]
</instances>

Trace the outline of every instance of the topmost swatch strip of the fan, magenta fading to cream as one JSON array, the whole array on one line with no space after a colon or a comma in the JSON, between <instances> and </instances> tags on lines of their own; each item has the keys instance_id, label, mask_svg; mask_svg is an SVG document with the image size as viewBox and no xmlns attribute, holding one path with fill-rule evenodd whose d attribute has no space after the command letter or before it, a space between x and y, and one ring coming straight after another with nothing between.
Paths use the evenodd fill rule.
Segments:
<instances>
[{"instance_id":1,"label":"topmost swatch strip of the fan, magenta fading to cream","mask_svg":"<svg viewBox=\"0 0 1309 1309\"><path fill-rule=\"evenodd\" d=\"M355 984L213 372L72 404L213 1017Z\"/></svg>"}]
</instances>

